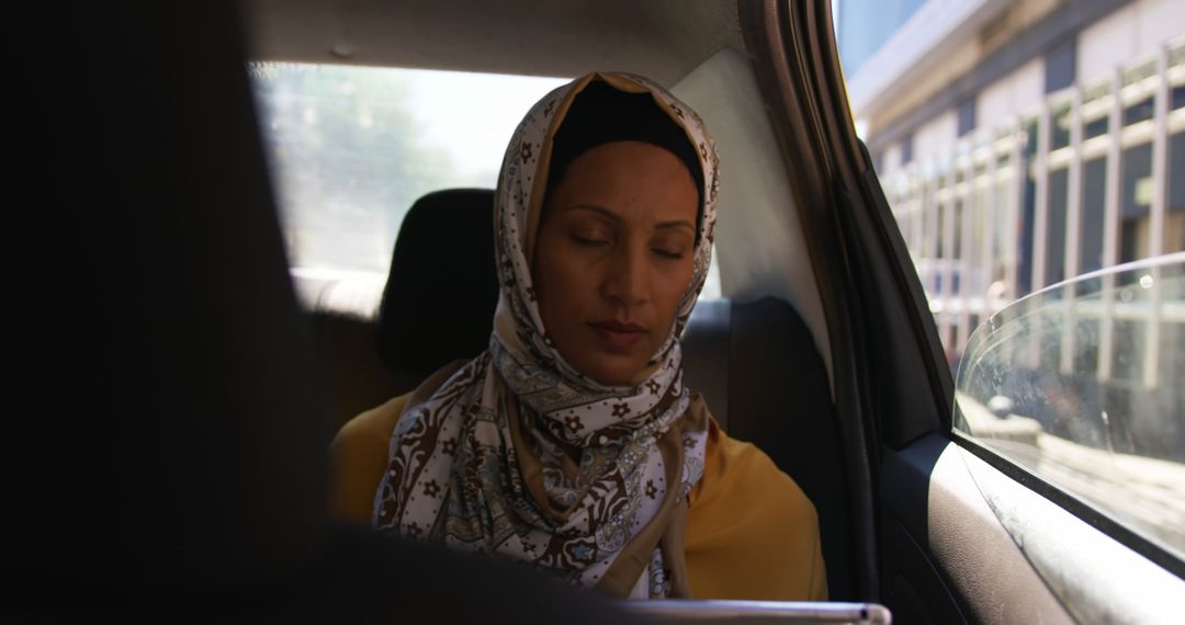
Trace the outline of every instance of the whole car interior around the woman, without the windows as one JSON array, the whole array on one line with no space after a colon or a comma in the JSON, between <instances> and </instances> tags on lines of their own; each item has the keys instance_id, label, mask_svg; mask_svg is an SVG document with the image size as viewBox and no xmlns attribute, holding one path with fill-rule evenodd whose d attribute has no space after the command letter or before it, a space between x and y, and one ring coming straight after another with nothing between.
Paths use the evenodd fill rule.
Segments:
<instances>
[{"instance_id":1,"label":"whole car interior around the woman, without the windows","mask_svg":"<svg viewBox=\"0 0 1185 625\"><path fill-rule=\"evenodd\" d=\"M1178 574L952 433L950 371L854 134L828 2L133 5L8 20L12 180L33 206L13 211L5 251L20 294L5 612L647 617L326 518L337 429L485 348L492 191L421 198L377 314L344 310L333 291L351 285L287 266L245 72L258 60L664 84L722 168L724 297L685 331L690 384L815 504L833 601L904 623L1069 623L1164 620L1181 595ZM463 253L431 245L442 231ZM784 621L851 617L814 614Z\"/></svg>"}]
</instances>

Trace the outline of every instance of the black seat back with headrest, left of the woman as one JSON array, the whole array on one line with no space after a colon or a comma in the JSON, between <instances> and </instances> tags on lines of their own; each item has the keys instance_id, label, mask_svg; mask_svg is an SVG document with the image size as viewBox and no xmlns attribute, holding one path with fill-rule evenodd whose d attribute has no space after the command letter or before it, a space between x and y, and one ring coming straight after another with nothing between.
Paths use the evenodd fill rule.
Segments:
<instances>
[{"instance_id":1,"label":"black seat back with headrest, left of the woman","mask_svg":"<svg viewBox=\"0 0 1185 625\"><path fill-rule=\"evenodd\" d=\"M438 191L417 200L399 227L377 316L326 305L325 291L306 298L327 363L334 424L486 348L498 302L493 205L489 189Z\"/></svg>"}]
</instances>

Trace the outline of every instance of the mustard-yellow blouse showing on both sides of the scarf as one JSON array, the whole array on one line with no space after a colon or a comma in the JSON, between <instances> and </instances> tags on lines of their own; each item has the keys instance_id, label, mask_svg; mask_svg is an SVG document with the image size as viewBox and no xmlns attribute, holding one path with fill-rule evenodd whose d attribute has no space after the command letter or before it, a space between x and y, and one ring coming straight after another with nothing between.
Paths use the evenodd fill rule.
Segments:
<instances>
[{"instance_id":1,"label":"mustard-yellow blouse showing on both sides of the scarf","mask_svg":"<svg viewBox=\"0 0 1185 625\"><path fill-rule=\"evenodd\" d=\"M401 395L351 419L329 446L329 513L370 523ZM773 460L711 421L704 476L688 495L684 549L696 599L827 599L819 518Z\"/></svg>"}]
</instances>

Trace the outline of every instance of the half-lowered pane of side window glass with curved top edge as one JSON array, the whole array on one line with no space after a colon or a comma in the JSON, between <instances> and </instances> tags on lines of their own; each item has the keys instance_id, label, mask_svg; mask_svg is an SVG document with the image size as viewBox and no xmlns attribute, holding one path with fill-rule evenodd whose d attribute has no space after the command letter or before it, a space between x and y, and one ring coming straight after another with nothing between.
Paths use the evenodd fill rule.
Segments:
<instances>
[{"instance_id":1,"label":"half-lowered pane of side window glass with curved top edge","mask_svg":"<svg viewBox=\"0 0 1185 625\"><path fill-rule=\"evenodd\" d=\"M1185 253L1176 253L993 315L962 359L954 424L1185 556L1183 381Z\"/></svg>"}]
</instances>

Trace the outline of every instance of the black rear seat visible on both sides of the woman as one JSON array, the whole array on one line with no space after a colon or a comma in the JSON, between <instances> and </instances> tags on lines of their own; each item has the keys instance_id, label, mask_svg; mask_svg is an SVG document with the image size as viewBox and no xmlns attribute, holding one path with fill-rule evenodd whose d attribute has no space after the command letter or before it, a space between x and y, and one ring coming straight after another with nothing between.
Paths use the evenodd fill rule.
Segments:
<instances>
[{"instance_id":1,"label":"black rear seat visible on both sides of the woman","mask_svg":"<svg viewBox=\"0 0 1185 625\"><path fill-rule=\"evenodd\" d=\"M448 189L418 200L399 230L377 318L307 312L329 372L334 414L350 418L414 389L489 342L498 303L493 189ZM449 238L461 245L441 247ZM443 340L442 340L443 337ZM702 302L683 339L688 386L736 438L754 442L803 489L826 528L833 592L851 595L843 464L827 374L809 329L776 297ZM795 354L787 359L784 354ZM777 418L794 398L794 421Z\"/></svg>"}]
</instances>

